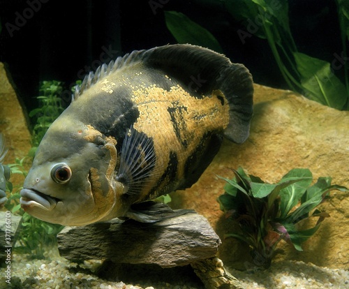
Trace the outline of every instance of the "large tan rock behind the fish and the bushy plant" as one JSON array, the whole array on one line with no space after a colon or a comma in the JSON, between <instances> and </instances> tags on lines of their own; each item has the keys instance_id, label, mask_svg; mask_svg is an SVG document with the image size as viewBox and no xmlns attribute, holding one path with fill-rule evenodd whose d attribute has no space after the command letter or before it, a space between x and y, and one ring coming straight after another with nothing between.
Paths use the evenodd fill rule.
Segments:
<instances>
[{"instance_id":1,"label":"large tan rock behind the fish and the bushy plant","mask_svg":"<svg viewBox=\"0 0 349 289\"><path fill-rule=\"evenodd\" d=\"M241 165L248 174L268 182L279 181L292 168L309 168L314 180L331 176L332 184L349 186L349 112L341 112L309 101L291 91L255 84L255 112L251 135L241 145L223 142L214 161L200 180L186 191L172 194L172 207L195 209L210 221L221 239L232 232L216 198L231 168ZM276 258L303 260L315 265L349 267L349 197L335 191L320 209L329 212L320 230L298 252L281 242L283 254ZM225 265L241 267L248 249L235 239L224 239L220 258ZM239 264L238 264L239 263ZM242 268L243 269L243 268Z\"/></svg>"}]
</instances>

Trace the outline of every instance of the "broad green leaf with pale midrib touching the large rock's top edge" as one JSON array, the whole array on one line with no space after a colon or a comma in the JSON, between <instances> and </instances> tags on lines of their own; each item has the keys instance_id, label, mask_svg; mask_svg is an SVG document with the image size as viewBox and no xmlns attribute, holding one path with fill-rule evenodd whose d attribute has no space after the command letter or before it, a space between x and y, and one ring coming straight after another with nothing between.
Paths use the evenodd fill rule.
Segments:
<instances>
[{"instance_id":1,"label":"broad green leaf with pale midrib touching the large rock's top edge","mask_svg":"<svg viewBox=\"0 0 349 289\"><path fill-rule=\"evenodd\" d=\"M301 75L305 96L337 110L347 101L346 87L331 71L329 62L294 52L297 70Z\"/></svg>"}]
</instances>

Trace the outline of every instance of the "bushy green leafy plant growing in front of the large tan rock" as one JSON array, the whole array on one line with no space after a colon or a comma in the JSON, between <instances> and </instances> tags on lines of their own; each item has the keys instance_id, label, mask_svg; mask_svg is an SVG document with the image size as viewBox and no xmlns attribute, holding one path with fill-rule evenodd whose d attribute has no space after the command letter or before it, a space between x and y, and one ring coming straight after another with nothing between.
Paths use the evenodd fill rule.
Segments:
<instances>
[{"instance_id":1,"label":"bushy green leafy plant growing in front of the large tan rock","mask_svg":"<svg viewBox=\"0 0 349 289\"><path fill-rule=\"evenodd\" d=\"M238 232L231 232L226 237L235 237L248 244L254 262L252 267L268 268L276 245L282 239L302 251L302 244L329 217L315 207L327 198L330 191L348 190L331 185L330 177L320 177L310 186L313 176L308 169L290 170L276 184L246 175L242 168L233 172L233 179L220 177L227 184L218 202L225 217L232 218L239 225ZM309 218L318 218L318 221L309 225L306 223ZM304 229L304 225L308 228Z\"/></svg>"}]
</instances>

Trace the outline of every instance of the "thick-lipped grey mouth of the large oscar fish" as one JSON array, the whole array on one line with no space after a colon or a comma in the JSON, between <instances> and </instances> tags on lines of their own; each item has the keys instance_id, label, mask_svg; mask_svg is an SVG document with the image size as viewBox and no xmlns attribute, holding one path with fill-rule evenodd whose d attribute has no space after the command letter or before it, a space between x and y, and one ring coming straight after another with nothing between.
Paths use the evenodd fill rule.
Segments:
<instances>
[{"instance_id":1,"label":"thick-lipped grey mouth of the large oscar fish","mask_svg":"<svg viewBox=\"0 0 349 289\"><path fill-rule=\"evenodd\" d=\"M40 193L33 188L22 188L20 204L24 211L32 207L51 211L56 207L57 202L59 202L59 199Z\"/></svg>"}]
</instances>

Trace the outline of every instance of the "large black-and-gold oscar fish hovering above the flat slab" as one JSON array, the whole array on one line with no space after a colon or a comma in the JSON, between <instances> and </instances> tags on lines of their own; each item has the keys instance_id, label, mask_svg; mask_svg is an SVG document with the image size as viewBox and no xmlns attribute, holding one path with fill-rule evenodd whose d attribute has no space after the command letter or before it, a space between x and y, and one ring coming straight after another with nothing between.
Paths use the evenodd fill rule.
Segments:
<instances>
[{"instance_id":1,"label":"large black-and-gold oscar fish hovering above the flat slab","mask_svg":"<svg viewBox=\"0 0 349 289\"><path fill-rule=\"evenodd\" d=\"M76 87L38 146L21 206L61 225L154 221L141 205L192 186L223 138L248 138L252 114L251 74L223 54L195 45L131 52Z\"/></svg>"}]
</instances>

